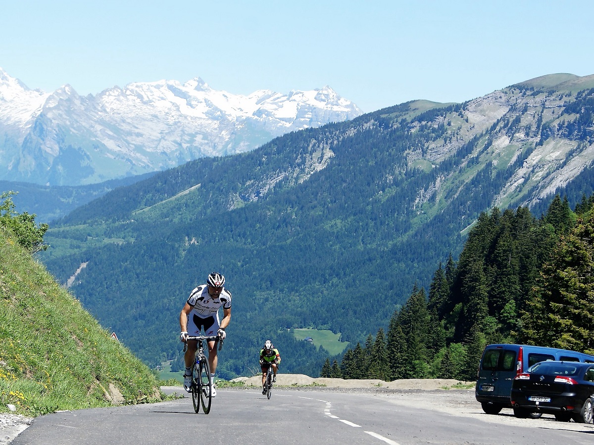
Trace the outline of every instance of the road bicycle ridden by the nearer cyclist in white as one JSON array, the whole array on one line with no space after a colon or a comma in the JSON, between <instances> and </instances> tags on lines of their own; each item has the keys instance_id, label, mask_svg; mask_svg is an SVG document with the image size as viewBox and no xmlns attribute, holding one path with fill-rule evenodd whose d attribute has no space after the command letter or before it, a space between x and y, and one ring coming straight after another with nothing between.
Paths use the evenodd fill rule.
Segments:
<instances>
[{"instance_id":1,"label":"road bicycle ridden by the nearer cyclist in white","mask_svg":"<svg viewBox=\"0 0 594 445\"><path fill-rule=\"evenodd\" d=\"M204 355L204 341L216 340L219 339L219 336L189 335L187 339L198 341L194 367L192 367L192 384L190 386L192 405L194 405L195 412L200 412L200 405L202 404L202 411L204 411L204 414L208 414L213 401L210 392L213 387L213 377L210 375L210 365L208 365L208 360ZM222 347L223 341L219 339L219 351ZM184 352L187 348L188 344L185 344Z\"/></svg>"}]
</instances>

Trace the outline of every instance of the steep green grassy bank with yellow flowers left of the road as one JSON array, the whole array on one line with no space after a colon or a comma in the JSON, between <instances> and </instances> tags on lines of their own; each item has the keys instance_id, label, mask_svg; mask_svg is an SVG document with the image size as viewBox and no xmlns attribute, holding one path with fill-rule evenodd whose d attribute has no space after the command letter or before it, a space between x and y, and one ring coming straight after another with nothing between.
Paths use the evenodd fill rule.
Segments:
<instances>
[{"instance_id":1,"label":"steep green grassy bank with yellow flowers left of the road","mask_svg":"<svg viewBox=\"0 0 594 445\"><path fill-rule=\"evenodd\" d=\"M0 412L156 402L154 374L0 230Z\"/></svg>"}]
</instances>

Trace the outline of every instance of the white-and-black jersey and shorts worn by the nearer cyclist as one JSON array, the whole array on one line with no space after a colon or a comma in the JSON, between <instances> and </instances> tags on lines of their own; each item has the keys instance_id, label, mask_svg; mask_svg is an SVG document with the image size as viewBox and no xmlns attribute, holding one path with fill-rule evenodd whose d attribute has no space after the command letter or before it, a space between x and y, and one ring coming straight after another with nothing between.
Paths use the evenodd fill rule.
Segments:
<instances>
[{"instance_id":1,"label":"white-and-black jersey and shorts worn by the nearer cyclist","mask_svg":"<svg viewBox=\"0 0 594 445\"><path fill-rule=\"evenodd\" d=\"M192 306L188 314L188 334L200 335L200 330L204 329L204 335L216 335L220 327L219 308L231 307L231 293L223 288L219 298L213 298L208 294L208 286L203 284L191 291L188 304Z\"/></svg>"}]
</instances>

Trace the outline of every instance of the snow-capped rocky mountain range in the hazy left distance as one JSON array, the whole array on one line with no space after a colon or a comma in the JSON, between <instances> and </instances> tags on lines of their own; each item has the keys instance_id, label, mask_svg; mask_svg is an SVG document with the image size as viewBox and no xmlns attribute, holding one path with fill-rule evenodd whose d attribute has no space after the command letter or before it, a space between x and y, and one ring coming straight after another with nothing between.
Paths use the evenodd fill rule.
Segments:
<instances>
[{"instance_id":1,"label":"snow-capped rocky mountain range in the hazy left distance","mask_svg":"<svg viewBox=\"0 0 594 445\"><path fill-rule=\"evenodd\" d=\"M200 78L134 82L93 96L30 90L0 68L0 179L81 185L253 150L362 111L332 88L241 96Z\"/></svg>"}]
</instances>

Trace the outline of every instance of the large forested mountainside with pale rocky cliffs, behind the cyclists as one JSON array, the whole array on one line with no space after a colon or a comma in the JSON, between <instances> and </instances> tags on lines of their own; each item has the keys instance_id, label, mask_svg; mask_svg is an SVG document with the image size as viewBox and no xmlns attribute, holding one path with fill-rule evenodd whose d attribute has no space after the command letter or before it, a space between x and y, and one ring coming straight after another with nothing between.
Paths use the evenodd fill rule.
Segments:
<instances>
[{"instance_id":1,"label":"large forested mountainside with pale rocky cliffs, behind the cyclists","mask_svg":"<svg viewBox=\"0 0 594 445\"><path fill-rule=\"evenodd\" d=\"M151 366L179 358L179 311L220 271L233 293L221 377L249 374L266 338L284 371L317 374L327 354L288 329L364 342L458 257L481 214L546 210L592 183L594 90L543 83L400 104L157 173L59 221L40 258Z\"/></svg>"}]
</instances>

